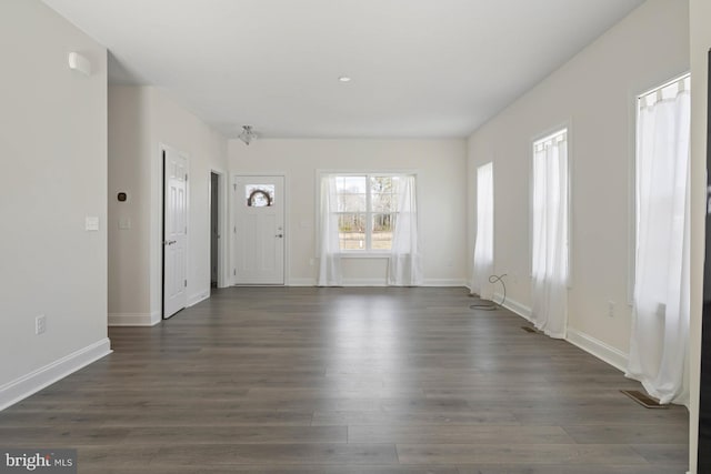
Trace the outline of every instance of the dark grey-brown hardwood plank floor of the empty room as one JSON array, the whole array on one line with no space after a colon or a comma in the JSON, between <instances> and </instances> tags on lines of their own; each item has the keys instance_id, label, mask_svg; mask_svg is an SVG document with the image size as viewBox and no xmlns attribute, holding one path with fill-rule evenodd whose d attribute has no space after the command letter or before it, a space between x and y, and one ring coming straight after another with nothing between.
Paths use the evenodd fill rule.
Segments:
<instances>
[{"instance_id":1,"label":"dark grey-brown hardwood plank floor of the empty room","mask_svg":"<svg viewBox=\"0 0 711 474\"><path fill-rule=\"evenodd\" d=\"M672 474L688 413L464 289L233 288L0 412L80 473Z\"/></svg>"}]
</instances>

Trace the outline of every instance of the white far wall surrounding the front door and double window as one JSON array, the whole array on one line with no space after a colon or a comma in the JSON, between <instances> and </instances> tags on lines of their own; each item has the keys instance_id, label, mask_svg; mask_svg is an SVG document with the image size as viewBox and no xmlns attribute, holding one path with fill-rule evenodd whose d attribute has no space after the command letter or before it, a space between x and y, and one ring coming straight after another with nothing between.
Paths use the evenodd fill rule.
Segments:
<instances>
[{"instance_id":1,"label":"white far wall surrounding the front door and double window","mask_svg":"<svg viewBox=\"0 0 711 474\"><path fill-rule=\"evenodd\" d=\"M229 143L230 177L286 174L287 284L316 283L317 170L418 171L424 280L465 281L465 143L463 140L258 140ZM348 259L344 284L384 284L385 260Z\"/></svg>"}]
</instances>

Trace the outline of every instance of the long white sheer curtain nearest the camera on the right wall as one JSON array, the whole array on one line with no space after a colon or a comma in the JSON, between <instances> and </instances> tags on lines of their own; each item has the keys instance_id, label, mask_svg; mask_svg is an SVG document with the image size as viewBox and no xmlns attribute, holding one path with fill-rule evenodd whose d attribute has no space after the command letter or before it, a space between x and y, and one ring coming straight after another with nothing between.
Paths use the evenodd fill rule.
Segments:
<instances>
[{"instance_id":1,"label":"long white sheer curtain nearest the camera on the right wall","mask_svg":"<svg viewBox=\"0 0 711 474\"><path fill-rule=\"evenodd\" d=\"M661 403L689 401L690 79L640 98L637 264L627 375Z\"/></svg>"}]
</instances>

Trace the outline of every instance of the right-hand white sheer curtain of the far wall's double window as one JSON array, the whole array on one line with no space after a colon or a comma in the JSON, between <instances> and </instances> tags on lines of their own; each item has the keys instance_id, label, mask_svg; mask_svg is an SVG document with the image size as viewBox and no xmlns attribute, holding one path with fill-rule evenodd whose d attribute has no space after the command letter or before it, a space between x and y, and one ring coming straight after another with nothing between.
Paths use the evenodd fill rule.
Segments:
<instances>
[{"instance_id":1,"label":"right-hand white sheer curtain of the far wall's double window","mask_svg":"<svg viewBox=\"0 0 711 474\"><path fill-rule=\"evenodd\" d=\"M394 179L393 179L394 181ZM388 284L422 284L422 258L418 240L418 206L413 175L398 177L398 215L388 264Z\"/></svg>"}]
</instances>

